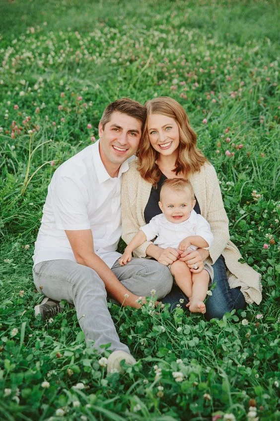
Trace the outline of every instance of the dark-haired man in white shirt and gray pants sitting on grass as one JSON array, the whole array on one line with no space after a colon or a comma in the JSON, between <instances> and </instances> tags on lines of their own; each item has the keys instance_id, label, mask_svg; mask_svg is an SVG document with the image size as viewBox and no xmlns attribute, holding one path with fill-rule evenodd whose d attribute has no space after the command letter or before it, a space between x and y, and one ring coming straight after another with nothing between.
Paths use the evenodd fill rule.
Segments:
<instances>
[{"instance_id":1,"label":"dark-haired man in white shirt and gray pants sitting on grass","mask_svg":"<svg viewBox=\"0 0 280 421\"><path fill-rule=\"evenodd\" d=\"M122 267L121 254L116 252L121 236L121 177L137 150L145 118L145 108L130 99L105 108L99 140L54 173L35 242L37 290L52 300L72 303L85 340L94 341L98 350L111 343L108 371L120 370L122 359L130 364L135 359L120 342L107 308L106 290L124 306L139 308L139 296L155 289L162 298L172 287L166 266L132 259ZM38 306L37 313L40 310Z\"/></svg>"}]
</instances>

